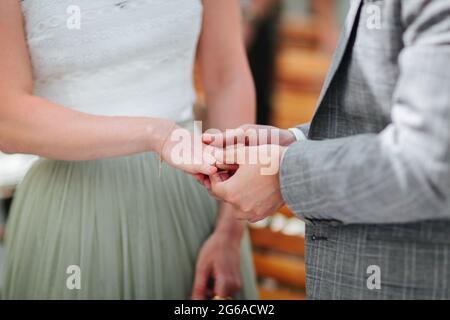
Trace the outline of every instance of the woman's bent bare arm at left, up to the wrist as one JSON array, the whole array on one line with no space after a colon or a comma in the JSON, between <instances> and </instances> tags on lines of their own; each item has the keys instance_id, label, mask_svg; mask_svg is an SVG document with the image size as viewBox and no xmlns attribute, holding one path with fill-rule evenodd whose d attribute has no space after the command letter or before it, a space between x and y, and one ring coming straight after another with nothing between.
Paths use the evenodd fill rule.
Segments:
<instances>
[{"instance_id":1,"label":"woman's bent bare arm at left, up to the wrist","mask_svg":"<svg viewBox=\"0 0 450 320\"><path fill-rule=\"evenodd\" d=\"M20 2L0 2L0 150L57 160L160 151L173 123L83 114L33 96Z\"/></svg>"}]
</instances>

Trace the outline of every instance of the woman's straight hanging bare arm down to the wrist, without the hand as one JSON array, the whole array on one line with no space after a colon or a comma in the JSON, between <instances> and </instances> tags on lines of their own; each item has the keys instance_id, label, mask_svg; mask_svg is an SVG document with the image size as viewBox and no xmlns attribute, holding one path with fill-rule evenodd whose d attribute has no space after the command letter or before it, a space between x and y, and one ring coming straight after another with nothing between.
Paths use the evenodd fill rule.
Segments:
<instances>
[{"instance_id":1,"label":"woman's straight hanging bare arm down to the wrist, without the hand","mask_svg":"<svg viewBox=\"0 0 450 320\"><path fill-rule=\"evenodd\" d=\"M200 71L208 107L208 125L219 130L255 122L255 88L248 66L236 0L204 0L205 17L199 44ZM217 229L238 227L222 204ZM231 221L230 221L231 220ZM225 227L223 226L225 225Z\"/></svg>"}]
</instances>

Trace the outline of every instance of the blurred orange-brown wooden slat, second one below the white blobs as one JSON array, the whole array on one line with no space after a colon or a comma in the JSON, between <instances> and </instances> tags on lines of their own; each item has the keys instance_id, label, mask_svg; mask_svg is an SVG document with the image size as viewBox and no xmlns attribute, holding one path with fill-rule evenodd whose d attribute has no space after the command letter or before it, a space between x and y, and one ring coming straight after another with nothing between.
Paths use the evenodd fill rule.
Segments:
<instances>
[{"instance_id":1,"label":"blurred orange-brown wooden slat, second one below the white blobs","mask_svg":"<svg viewBox=\"0 0 450 320\"><path fill-rule=\"evenodd\" d=\"M290 286L305 288L305 265L302 260L255 252L253 261L258 277L273 278Z\"/></svg>"}]
</instances>

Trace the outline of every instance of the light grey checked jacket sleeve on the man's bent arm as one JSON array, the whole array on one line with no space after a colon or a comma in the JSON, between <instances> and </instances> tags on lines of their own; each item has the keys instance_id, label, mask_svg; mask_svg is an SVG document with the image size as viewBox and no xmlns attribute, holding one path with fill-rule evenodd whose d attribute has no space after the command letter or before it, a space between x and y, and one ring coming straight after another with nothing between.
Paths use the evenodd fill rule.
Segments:
<instances>
[{"instance_id":1,"label":"light grey checked jacket sleeve on the man's bent arm","mask_svg":"<svg viewBox=\"0 0 450 320\"><path fill-rule=\"evenodd\" d=\"M405 48L380 134L300 141L283 158L288 206L344 224L450 219L450 1L402 2Z\"/></svg>"}]
</instances>

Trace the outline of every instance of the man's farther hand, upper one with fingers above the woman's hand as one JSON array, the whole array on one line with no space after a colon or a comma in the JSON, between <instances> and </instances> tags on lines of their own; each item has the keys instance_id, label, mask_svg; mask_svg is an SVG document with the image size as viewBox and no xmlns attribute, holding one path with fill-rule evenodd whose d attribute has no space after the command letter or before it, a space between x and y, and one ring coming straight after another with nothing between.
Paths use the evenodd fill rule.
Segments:
<instances>
[{"instance_id":1,"label":"man's farther hand, upper one with fingers above the woman's hand","mask_svg":"<svg viewBox=\"0 0 450 320\"><path fill-rule=\"evenodd\" d=\"M266 144L289 146L295 141L295 136L289 130L256 124L246 124L221 133L203 134L203 143L219 148L233 145L254 147Z\"/></svg>"}]
</instances>

